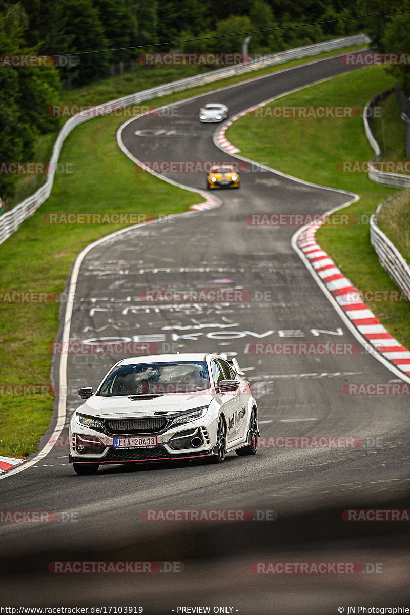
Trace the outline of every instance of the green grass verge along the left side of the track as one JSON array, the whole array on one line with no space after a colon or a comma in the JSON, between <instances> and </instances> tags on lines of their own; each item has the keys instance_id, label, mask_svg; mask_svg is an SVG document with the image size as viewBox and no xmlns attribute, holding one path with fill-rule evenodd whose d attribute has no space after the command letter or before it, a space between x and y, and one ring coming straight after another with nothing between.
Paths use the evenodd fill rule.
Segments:
<instances>
[{"instance_id":1,"label":"green grass verge along the left side of the track","mask_svg":"<svg viewBox=\"0 0 410 615\"><path fill-rule=\"evenodd\" d=\"M275 68L267 67L242 77L231 77L157 98L148 101L148 104L154 107L168 104L336 53L294 60ZM140 68L140 73L136 71L135 75L125 73L81 90L67 90L61 95L61 100L67 105L97 105L187 76L186 69L189 67L144 72ZM57 175L50 198L0 245L0 292L18 290L54 292L58 295L80 250L93 240L121 228L120 225L108 224L52 226L44 222L47 213L141 212L158 216L186 211L190 205L200 201L194 193L171 186L149 173L136 172L133 163L116 143L115 133L123 121L124 118L118 117L92 119L77 127L66 139L60 162L74 164L76 172ZM56 119L56 122L60 121ZM36 162L49 161L52 140L47 137L45 142L42 149L44 155ZM39 186L31 187L37 189ZM30 178L23 178L19 189L22 191L20 194L28 196L26 192L30 189ZM42 386L51 392L52 355L49 345L57 335L58 308L58 303L0 303L0 387L3 387L0 388L0 455L25 457L32 453L50 424L52 394L31 397L4 395L2 392L19 391L14 387L22 385Z\"/></svg>"}]
</instances>

